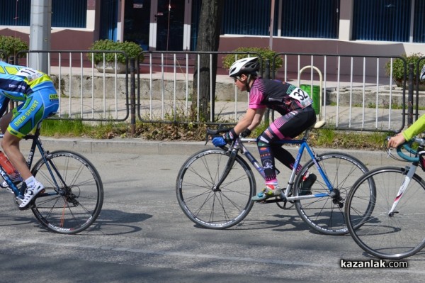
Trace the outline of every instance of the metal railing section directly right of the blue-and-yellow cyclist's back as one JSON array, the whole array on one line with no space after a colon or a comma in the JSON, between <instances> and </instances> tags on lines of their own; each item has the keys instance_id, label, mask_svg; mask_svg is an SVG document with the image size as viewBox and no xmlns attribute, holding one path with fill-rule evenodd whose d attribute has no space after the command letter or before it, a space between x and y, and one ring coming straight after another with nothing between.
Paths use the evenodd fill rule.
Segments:
<instances>
[{"instance_id":1,"label":"metal railing section directly right of the blue-and-yellow cyclist's back","mask_svg":"<svg viewBox=\"0 0 425 283\"><path fill-rule=\"evenodd\" d=\"M46 72L57 89L60 107L55 118L81 121L126 121L130 115L128 55L121 51L21 51L27 56L16 65L28 66L28 55L47 56L47 70L40 60L35 68ZM20 53L21 53L20 52ZM20 54L18 53L18 55ZM106 54L115 55L114 62ZM125 57L119 62L118 55ZM101 55L99 62L95 55Z\"/></svg>"}]
</instances>

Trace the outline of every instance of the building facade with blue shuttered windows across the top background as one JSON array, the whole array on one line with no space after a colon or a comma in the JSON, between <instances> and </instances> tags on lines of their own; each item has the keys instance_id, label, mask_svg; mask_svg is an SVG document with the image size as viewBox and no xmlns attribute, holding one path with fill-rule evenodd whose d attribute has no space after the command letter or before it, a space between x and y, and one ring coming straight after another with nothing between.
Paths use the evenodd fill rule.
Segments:
<instances>
[{"instance_id":1,"label":"building facade with blue shuttered windows across the top background","mask_svg":"<svg viewBox=\"0 0 425 283\"><path fill-rule=\"evenodd\" d=\"M200 0L51 1L52 50L87 50L106 38L196 50ZM2 0L0 35L29 41L30 4ZM220 51L425 54L425 0L226 0L221 34Z\"/></svg>"}]
</instances>

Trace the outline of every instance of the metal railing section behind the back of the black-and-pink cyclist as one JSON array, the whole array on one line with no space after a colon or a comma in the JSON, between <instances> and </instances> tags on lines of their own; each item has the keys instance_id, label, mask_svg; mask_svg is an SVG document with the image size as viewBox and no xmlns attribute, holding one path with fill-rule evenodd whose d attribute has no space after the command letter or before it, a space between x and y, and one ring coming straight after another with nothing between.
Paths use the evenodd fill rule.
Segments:
<instances>
[{"instance_id":1,"label":"metal railing section behind the back of the black-and-pink cyclist","mask_svg":"<svg viewBox=\"0 0 425 283\"><path fill-rule=\"evenodd\" d=\"M399 131L404 128L406 77L398 86L392 79L394 60L402 60L404 74L407 74L404 58L300 53L279 53L276 56L284 58L285 80L288 70L300 70L304 65L322 70L320 118L334 128L351 131ZM297 79L300 80L299 74ZM312 70L301 79L308 84L319 82L318 78L314 79Z\"/></svg>"}]
</instances>

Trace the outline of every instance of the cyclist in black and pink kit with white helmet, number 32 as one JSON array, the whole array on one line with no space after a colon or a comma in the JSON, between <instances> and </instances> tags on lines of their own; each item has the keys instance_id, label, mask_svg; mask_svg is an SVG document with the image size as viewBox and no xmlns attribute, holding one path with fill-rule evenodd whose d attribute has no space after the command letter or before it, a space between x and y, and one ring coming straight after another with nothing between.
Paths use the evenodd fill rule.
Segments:
<instances>
[{"instance_id":1,"label":"cyclist in black and pink kit with white helmet, number 32","mask_svg":"<svg viewBox=\"0 0 425 283\"><path fill-rule=\"evenodd\" d=\"M276 140L295 138L316 122L316 113L312 108L312 99L292 84L278 80L263 79L257 76L259 71L259 58L250 57L237 60L229 70L229 77L234 79L234 84L240 91L249 92L249 106L244 117L234 128L225 135L215 137L212 143L222 146L232 142L240 134L246 137L261 123L263 113L267 108L278 111L282 116L277 118L257 138L261 163L266 175L266 187L251 199L263 201L271 196L279 196L275 170L275 157L291 170L295 164L293 155L275 144ZM298 165L297 172L301 169ZM312 184L316 181L314 174L305 174L302 184L302 194L309 194Z\"/></svg>"}]
</instances>

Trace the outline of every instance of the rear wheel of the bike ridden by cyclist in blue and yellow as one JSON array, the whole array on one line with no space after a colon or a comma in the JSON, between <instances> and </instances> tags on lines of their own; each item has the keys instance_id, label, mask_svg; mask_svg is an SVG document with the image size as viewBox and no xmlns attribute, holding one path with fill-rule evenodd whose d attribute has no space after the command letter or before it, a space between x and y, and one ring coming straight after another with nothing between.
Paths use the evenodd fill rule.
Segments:
<instances>
[{"instance_id":1,"label":"rear wheel of the bike ridden by cyclist in blue and yellow","mask_svg":"<svg viewBox=\"0 0 425 283\"><path fill-rule=\"evenodd\" d=\"M40 159L32 173L45 186L30 206L50 231L74 234L91 226L102 209L103 184L94 165L82 155L55 151Z\"/></svg>"}]
</instances>

